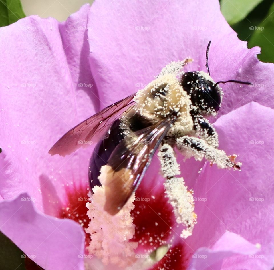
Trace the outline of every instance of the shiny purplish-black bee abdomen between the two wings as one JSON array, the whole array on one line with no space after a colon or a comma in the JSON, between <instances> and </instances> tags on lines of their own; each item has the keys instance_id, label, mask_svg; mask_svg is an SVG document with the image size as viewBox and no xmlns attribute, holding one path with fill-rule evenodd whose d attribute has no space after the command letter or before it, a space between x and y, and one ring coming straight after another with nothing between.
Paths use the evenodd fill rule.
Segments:
<instances>
[{"instance_id":1,"label":"shiny purplish-black bee abdomen between the two wings","mask_svg":"<svg viewBox=\"0 0 274 270\"><path fill-rule=\"evenodd\" d=\"M97 143L90 158L88 168L88 178L91 190L94 186L101 186L101 183L98 180L101 167L106 165L111 153L124 137L124 132L120 126L120 119L117 119L113 122L104 138Z\"/></svg>"}]
</instances>

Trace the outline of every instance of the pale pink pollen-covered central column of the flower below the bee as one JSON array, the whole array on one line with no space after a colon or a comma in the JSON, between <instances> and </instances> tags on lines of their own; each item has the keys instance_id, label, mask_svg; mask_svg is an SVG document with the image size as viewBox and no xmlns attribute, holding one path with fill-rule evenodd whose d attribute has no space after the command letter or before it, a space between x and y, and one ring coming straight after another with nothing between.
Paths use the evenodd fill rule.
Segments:
<instances>
[{"instance_id":1,"label":"pale pink pollen-covered central column of the flower below the bee","mask_svg":"<svg viewBox=\"0 0 274 270\"><path fill-rule=\"evenodd\" d=\"M86 204L90 223L86 230L90 234L89 254L95 255L105 265L118 267L132 265L135 258L136 242L130 242L134 235L133 219L130 211L134 208L134 195L116 215L104 211L104 186L95 186L89 193L91 202Z\"/></svg>"}]
</instances>

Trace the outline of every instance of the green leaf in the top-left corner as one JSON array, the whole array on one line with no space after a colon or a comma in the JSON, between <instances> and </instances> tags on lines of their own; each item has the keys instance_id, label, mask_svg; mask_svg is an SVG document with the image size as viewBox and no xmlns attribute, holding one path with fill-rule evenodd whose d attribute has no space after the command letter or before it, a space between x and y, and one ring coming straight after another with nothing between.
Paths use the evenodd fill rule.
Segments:
<instances>
[{"instance_id":1,"label":"green leaf in the top-left corner","mask_svg":"<svg viewBox=\"0 0 274 270\"><path fill-rule=\"evenodd\" d=\"M0 0L0 27L26 17L20 0Z\"/></svg>"}]
</instances>

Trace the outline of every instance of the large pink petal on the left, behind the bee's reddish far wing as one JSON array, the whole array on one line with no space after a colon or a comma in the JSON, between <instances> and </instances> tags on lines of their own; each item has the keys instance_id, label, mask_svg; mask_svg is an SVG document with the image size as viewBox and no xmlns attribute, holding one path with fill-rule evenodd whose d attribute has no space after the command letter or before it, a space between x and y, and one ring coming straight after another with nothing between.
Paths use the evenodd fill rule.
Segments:
<instances>
[{"instance_id":1,"label":"large pink petal on the left, behind the bee's reddish far wing","mask_svg":"<svg viewBox=\"0 0 274 270\"><path fill-rule=\"evenodd\" d=\"M26 191L54 216L67 201L64 186L76 194L87 187L92 148L66 158L48 151L98 108L88 61L89 9L84 5L65 23L31 16L0 29L0 194L11 199Z\"/></svg>"}]
</instances>

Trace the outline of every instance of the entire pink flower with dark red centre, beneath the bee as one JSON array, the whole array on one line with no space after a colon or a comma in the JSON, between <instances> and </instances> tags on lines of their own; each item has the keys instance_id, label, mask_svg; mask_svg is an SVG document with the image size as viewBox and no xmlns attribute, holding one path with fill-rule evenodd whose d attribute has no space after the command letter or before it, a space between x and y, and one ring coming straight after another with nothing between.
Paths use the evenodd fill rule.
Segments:
<instances>
[{"instance_id":1,"label":"entire pink flower with dark red centre, beneath the bee","mask_svg":"<svg viewBox=\"0 0 274 270\"><path fill-rule=\"evenodd\" d=\"M0 35L0 230L37 264L84 269L85 261L91 269L115 269L102 265L100 259L109 254L90 259L85 253L89 235L81 226L89 223L92 147L65 158L48 150L80 121L143 88L170 61L190 56L188 70L206 70L206 45L212 40L214 80L254 84L225 84L218 114L223 116L215 122L220 148L239 154L242 171L180 162L198 216L192 235L182 239L154 160L136 192L150 200L134 202L129 218L136 227L126 243L138 243L136 269L151 248L156 259L167 251L151 269L273 267L274 66L259 62L259 48L247 49L237 38L217 0L101 0L64 23L30 16L1 27Z\"/></svg>"}]
</instances>

